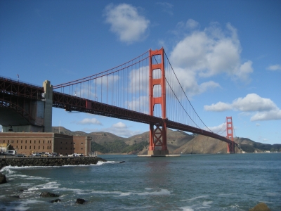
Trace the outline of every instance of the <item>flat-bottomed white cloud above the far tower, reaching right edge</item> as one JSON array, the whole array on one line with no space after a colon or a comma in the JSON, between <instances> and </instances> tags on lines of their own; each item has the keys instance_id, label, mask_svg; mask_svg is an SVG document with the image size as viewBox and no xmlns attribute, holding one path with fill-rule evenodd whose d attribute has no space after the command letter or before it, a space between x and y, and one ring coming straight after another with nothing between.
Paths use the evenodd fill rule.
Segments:
<instances>
[{"instance_id":1,"label":"flat-bottomed white cloud above the far tower, reaching right edge","mask_svg":"<svg viewBox=\"0 0 281 211\"><path fill-rule=\"evenodd\" d=\"M262 98L257 94L247 94L244 98L235 99L233 103L218 102L211 106L204 106L204 110L239 110L243 114L251 113L251 121L281 120L280 108L270 98Z\"/></svg>"}]
</instances>

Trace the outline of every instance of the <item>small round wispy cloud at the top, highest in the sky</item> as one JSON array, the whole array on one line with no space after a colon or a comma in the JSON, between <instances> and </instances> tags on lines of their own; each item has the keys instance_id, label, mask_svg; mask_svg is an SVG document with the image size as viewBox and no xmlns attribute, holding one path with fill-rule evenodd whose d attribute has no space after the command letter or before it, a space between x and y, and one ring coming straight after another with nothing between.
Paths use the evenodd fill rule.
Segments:
<instances>
[{"instance_id":1,"label":"small round wispy cloud at the top, highest in the sky","mask_svg":"<svg viewBox=\"0 0 281 211\"><path fill-rule=\"evenodd\" d=\"M110 30L117 34L120 41L128 44L145 37L150 21L138 13L136 7L129 4L110 4L105 7L105 21Z\"/></svg>"}]
</instances>

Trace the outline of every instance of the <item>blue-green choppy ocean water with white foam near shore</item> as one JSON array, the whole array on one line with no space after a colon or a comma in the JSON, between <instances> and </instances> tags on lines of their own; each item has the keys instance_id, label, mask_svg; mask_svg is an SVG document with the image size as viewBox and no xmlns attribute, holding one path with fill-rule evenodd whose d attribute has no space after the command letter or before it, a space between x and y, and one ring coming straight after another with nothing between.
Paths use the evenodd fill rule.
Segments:
<instances>
[{"instance_id":1,"label":"blue-green choppy ocean water with white foam near shore","mask_svg":"<svg viewBox=\"0 0 281 211\"><path fill-rule=\"evenodd\" d=\"M0 210L249 210L260 202L281 210L281 153L100 158L108 162L4 167Z\"/></svg>"}]
</instances>

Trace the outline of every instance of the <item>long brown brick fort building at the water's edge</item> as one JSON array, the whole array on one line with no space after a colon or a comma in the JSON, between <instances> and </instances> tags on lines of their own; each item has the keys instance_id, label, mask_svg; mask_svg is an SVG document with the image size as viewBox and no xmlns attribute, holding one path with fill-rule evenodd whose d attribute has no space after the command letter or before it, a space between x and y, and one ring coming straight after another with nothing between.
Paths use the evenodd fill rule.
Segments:
<instances>
[{"instance_id":1,"label":"long brown brick fort building at the water's edge","mask_svg":"<svg viewBox=\"0 0 281 211\"><path fill-rule=\"evenodd\" d=\"M8 149L18 154L60 153L69 155L91 154L91 136L69 136L44 132L4 132L0 133L0 143L6 143Z\"/></svg>"}]
</instances>

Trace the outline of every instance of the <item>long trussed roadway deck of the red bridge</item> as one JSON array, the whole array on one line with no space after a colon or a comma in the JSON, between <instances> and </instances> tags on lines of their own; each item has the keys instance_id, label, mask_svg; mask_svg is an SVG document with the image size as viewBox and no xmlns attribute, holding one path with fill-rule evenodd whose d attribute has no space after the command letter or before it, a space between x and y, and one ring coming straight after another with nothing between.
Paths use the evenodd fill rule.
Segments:
<instances>
[{"instance_id":1,"label":"long trussed roadway deck of the red bridge","mask_svg":"<svg viewBox=\"0 0 281 211\"><path fill-rule=\"evenodd\" d=\"M43 94L43 92L44 89L42 87L37 87L32 84L22 83L14 81L12 79L0 77L0 107L6 107L6 102L10 101L11 98L32 98L36 100L42 100L41 94ZM229 139L226 139L226 137L224 136L208 132L204 129L191 127L189 125L173 122L167 119L163 120L160 117L138 113L133 110L119 108L105 103L91 101L85 98L79 98L77 96L63 94L58 91L53 91L53 107L63 108L67 111L73 110L83 113L92 113L107 117L115 117L122 120L141 122L145 124L153 123L163 125L163 122L166 121L166 126L171 129L179 129L185 132L202 134L204 136L209 136L214 139L225 141L226 143L233 143Z\"/></svg>"}]
</instances>

